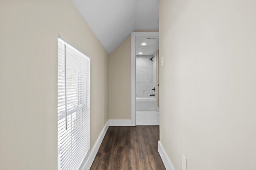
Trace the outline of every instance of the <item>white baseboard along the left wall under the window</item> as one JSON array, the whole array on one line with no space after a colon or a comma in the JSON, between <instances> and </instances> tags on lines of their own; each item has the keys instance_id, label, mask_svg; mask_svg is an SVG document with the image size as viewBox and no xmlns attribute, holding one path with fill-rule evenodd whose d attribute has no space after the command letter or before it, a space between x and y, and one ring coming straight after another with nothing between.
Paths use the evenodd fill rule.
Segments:
<instances>
[{"instance_id":1,"label":"white baseboard along the left wall under the window","mask_svg":"<svg viewBox=\"0 0 256 170\"><path fill-rule=\"evenodd\" d=\"M102 129L95 145L93 146L92 150L90 150L90 155L89 155L88 159L86 159L86 162L84 162L82 164L82 166L80 167L80 170L89 170L91 168L92 162L94 161L94 158L100 148L100 144L102 143L102 140L103 140L104 136L106 135L108 127L109 127L109 120L107 121L104 128Z\"/></svg>"}]
</instances>

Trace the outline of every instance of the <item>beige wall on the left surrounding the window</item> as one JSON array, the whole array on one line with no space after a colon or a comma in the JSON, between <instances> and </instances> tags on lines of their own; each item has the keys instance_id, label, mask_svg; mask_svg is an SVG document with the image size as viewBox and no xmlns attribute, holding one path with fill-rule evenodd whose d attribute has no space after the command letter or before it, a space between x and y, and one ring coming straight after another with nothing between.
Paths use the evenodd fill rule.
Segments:
<instances>
[{"instance_id":1,"label":"beige wall on the left surrounding the window","mask_svg":"<svg viewBox=\"0 0 256 170\"><path fill-rule=\"evenodd\" d=\"M70 0L0 2L0 169L57 169L58 33L92 57L91 148L108 120L108 54Z\"/></svg>"}]
</instances>

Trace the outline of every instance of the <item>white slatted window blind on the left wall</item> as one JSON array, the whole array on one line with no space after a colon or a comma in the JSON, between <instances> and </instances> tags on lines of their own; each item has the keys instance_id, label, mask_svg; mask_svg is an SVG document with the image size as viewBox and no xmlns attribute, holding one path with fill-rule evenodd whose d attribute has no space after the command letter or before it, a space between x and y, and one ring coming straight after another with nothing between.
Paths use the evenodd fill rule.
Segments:
<instances>
[{"instance_id":1,"label":"white slatted window blind on the left wall","mask_svg":"<svg viewBox=\"0 0 256 170\"><path fill-rule=\"evenodd\" d=\"M90 150L90 58L58 38L58 169L77 170Z\"/></svg>"}]
</instances>

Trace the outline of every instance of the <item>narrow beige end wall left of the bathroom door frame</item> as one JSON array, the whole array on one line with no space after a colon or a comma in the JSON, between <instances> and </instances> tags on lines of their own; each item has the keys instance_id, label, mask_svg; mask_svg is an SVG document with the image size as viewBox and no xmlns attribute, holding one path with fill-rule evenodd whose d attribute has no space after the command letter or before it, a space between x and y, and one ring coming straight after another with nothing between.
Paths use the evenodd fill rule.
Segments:
<instances>
[{"instance_id":1,"label":"narrow beige end wall left of the bathroom door frame","mask_svg":"<svg viewBox=\"0 0 256 170\"><path fill-rule=\"evenodd\" d=\"M109 56L109 119L131 119L131 35Z\"/></svg>"}]
</instances>

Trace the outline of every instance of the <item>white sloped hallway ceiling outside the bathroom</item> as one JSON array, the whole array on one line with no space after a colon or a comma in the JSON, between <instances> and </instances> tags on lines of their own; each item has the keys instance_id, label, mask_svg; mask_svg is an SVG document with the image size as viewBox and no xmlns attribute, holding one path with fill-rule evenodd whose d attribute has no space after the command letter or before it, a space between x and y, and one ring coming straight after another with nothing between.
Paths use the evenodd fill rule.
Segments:
<instances>
[{"instance_id":1,"label":"white sloped hallway ceiling outside the bathroom","mask_svg":"<svg viewBox=\"0 0 256 170\"><path fill-rule=\"evenodd\" d=\"M108 54L134 30L159 29L159 0L71 0Z\"/></svg>"}]
</instances>

